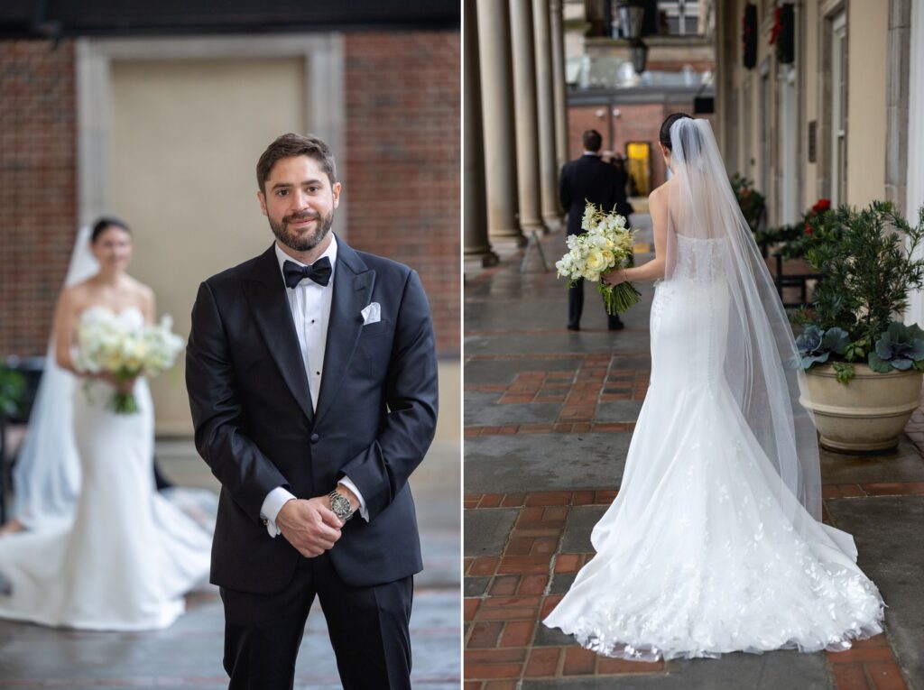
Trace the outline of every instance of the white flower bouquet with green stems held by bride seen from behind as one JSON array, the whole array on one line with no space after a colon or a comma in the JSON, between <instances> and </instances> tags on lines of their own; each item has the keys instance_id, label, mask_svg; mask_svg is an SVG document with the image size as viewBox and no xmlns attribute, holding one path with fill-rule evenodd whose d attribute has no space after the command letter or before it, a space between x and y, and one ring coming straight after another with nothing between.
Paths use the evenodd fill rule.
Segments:
<instances>
[{"instance_id":1,"label":"white flower bouquet with green stems held by bride seen from behind","mask_svg":"<svg viewBox=\"0 0 924 690\"><path fill-rule=\"evenodd\" d=\"M603 284L602 273L622 267L632 256L635 231L626 228L626 218L616 212L604 212L588 201L581 221L580 235L567 237L568 251L555 262L559 278L568 284L584 278L597 284L606 313L620 314L638 302L641 293L631 283Z\"/></svg>"}]
</instances>

